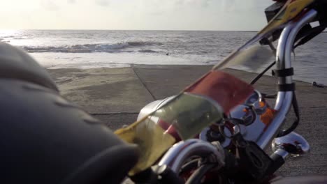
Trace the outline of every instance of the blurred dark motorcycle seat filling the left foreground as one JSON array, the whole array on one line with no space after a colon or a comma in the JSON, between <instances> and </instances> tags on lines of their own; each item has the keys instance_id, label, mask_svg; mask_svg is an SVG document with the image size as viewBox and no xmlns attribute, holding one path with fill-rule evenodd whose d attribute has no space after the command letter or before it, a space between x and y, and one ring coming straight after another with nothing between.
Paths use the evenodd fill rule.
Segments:
<instances>
[{"instance_id":1,"label":"blurred dark motorcycle seat filling the left foreground","mask_svg":"<svg viewBox=\"0 0 327 184\"><path fill-rule=\"evenodd\" d=\"M120 183L138 159L101 122L62 98L24 51L0 43L1 183Z\"/></svg>"}]
</instances>

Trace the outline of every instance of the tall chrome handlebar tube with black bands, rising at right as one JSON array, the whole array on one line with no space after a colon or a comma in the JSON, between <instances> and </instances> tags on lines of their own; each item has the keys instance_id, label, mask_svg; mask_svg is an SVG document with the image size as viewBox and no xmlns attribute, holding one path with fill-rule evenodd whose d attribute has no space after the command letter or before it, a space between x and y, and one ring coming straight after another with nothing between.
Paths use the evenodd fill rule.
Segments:
<instances>
[{"instance_id":1,"label":"tall chrome handlebar tube with black bands, rising at right","mask_svg":"<svg viewBox=\"0 0 327 184\"><path fill-rule=\"evenodd\" d=\"M298 31L305 26L305 24L311 22L314 17L316 17L317 11L310 10L303 17L298 20L298 22L289 22L282 31L277 45L276 61L277 69L287 69L291 68L291 53L293 51L293 43L298 34ZM279 77L278 84L291 84L292 77ZM257 144L261 148L266 148L270 141L277 135L279 129L284 123L286 114L289 112L291 107L291 102L293 99L293 91L279 91L277 94L277 100L275 105L275 110L277 110L277 115L275 116L273 122L269 125L266 132L257 141Z\"/></svg>"}]
</instances>

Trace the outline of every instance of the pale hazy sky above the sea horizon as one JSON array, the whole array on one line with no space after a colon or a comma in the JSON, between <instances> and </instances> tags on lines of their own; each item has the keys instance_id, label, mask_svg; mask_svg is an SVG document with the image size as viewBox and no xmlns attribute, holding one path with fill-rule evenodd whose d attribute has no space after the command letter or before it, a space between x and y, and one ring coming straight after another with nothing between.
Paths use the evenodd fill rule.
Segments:
<instances>
[{"instance_id":1,"label":"pale hazy sky above the sea horizon","mask_svg":"<svg viewBox=\"0 0 327 184\"><path fill-rule=\"evenodd\" d=\"M0 29L257 31L272 0L3 0Z\"/></svg>"}]
</instances>

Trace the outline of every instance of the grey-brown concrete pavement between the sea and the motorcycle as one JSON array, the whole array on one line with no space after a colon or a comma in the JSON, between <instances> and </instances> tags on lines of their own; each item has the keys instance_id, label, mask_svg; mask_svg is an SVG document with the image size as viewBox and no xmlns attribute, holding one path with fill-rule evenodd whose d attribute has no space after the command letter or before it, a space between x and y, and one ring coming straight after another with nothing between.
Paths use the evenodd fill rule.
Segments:
<instances>
[{"instance_id":1,"label":"grey-brown concrete pavement between the sea and the motorcycle","mask_svg":"<svg viewBox=\"0 0 327 184\"><path fill-rule=\"evenodd\" d=\"M212 66L148 66L129 68L52 69L50 75L61 95L116 130L136 121L138 112L153 100L166 98L194 82ZM229 72L247 82L256 76L240 70ZM264 76L255 85L263 93L275 93L274 77ZM298 176L327 174L327 88L296 82L301 121L296 132L312 148L305 158L286 162L279 174ZM270 103L273 105L273 102ZM293 121L292 118L288 119Z\"/></svg>"}]
</instances>

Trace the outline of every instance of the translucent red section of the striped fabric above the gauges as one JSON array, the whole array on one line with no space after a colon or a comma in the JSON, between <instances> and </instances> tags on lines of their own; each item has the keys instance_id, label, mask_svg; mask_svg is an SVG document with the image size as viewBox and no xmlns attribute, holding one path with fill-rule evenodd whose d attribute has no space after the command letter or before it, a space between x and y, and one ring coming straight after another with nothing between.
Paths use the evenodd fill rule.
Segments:
<instances>
[{"instance_id":1,"label":"translucent red section of the striped fabric above the gauges","mask_svg":"<svg viewBox=\"0 0 327 184\"><path fill-rule=\"evenodd\" d=\"M228 113L251 95L254 89L250 84L233 75L212 70L184 91L208 96L218 102L225 113Z\"/></svg>"}]
</instances>

